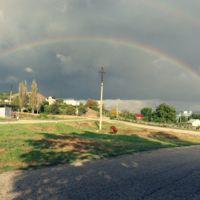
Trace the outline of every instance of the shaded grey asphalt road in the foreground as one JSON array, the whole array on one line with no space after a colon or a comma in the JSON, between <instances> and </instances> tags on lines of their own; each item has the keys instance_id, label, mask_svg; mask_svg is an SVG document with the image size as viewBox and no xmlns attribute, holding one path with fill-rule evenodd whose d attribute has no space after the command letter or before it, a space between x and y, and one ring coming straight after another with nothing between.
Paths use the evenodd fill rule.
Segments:
<instances>
[{"instance_id":1,"label":"shaded grey asphalt road in the foreground","mask_svg":"<svg viewBox=\"0 0 200 200\"><path fill-rule=\"evenodd\" d=\"M200 147L0 175L0 199L200 199Z\"/></svg>"}]
</instances>

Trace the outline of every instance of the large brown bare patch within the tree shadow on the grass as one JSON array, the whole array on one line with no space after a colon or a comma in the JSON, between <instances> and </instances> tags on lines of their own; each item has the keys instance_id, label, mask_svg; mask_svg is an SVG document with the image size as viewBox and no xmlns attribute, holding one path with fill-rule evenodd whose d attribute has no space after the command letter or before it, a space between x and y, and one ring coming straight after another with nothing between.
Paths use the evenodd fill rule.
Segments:
<instances>
[{"instance_id":1,"label":"large brown bare patch within the tree shadow on the grass","mask_svg":"<svg viewBox=\"0 0 200 200\"><path fill-rule=\"evenodd\" d=\"M54 148L62 150L87 150L88 146L101 147L98 142L86 140L73 136L57 135L57 138L34 140L35 145L43 146L44 148Z\"/></svg>"}]
</instances>

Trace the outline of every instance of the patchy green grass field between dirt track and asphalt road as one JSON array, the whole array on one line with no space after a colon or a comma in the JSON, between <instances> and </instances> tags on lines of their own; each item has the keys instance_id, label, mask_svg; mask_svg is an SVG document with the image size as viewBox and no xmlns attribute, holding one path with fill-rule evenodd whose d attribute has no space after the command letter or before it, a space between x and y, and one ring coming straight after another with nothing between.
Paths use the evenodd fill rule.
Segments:
<instances>
[{"instance_id":1,"label":"patchy green grass field between dirt track and asphalt road","mask_svg":"<svg viewBox=\"0 0 200 200\"><path fill-rule=\"evenodd\" d=\"M199 145L200 136L116 124L59 122L0 125L0 172L109 158L141 151Z\"/></svg>"}]
</instances>

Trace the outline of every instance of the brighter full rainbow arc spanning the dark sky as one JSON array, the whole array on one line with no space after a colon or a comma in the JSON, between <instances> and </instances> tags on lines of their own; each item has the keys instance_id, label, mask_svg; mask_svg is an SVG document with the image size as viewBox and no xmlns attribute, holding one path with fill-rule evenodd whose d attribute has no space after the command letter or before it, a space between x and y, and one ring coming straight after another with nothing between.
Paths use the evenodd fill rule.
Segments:
<instances>
[{"instance_id":1,"label":"brighter full rainbow arc spanning the dark sky","mask_svg":"<svg viewBox=\"0 0 200 200\"><path fill-rule=\"evenodd\" d=\"M58 43L58 42L73 42L73 41L85 41L85 42L100 42L100 43L108 43L108 44L117 44L129 48L133 48L136 50L139 50L144 53L148 53L150 55L162 58L166 62L172 64L173 66L181 69L185 73L191 75L196 80L200 81L200 74L198 74L196 71L191 69L189 66L185 65L183 62L181 62L178 59L173 58L172 56L167 55L164 52L161 52L160 50L156 50L144 45L141 45L136 42L130 42L125 40L119 40L114 38L101 38L101 37L60 37L60 38L51 38L51 39L44 39L44 40L38 40L34 42L30 42L27 44L23 44L20 46L13 47L11 49L8 49L6 51L0 52L0 58L7 56L9 54L12 54L17 51L22 51L31 47L36 47L39 45L46 45L46 44L52 44L52 43Z\"/></svg>"}]
</instances>

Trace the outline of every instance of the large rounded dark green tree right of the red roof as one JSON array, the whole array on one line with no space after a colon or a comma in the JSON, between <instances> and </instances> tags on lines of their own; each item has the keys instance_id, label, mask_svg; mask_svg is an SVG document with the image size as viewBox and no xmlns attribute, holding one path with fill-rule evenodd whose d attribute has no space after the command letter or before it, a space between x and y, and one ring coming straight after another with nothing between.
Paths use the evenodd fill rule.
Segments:
<instances>
[{"instance_id":1,"label":"large rounded dark green tree right of the red roof","mask_svg":"<svg viewBox=\"0 0 200 200\"><path fill-rule=\"evenodd\" d=\"M176 109L165 103L160 104L152 115L155 122L176 122Z\"/></svg>"}]
</instances>

